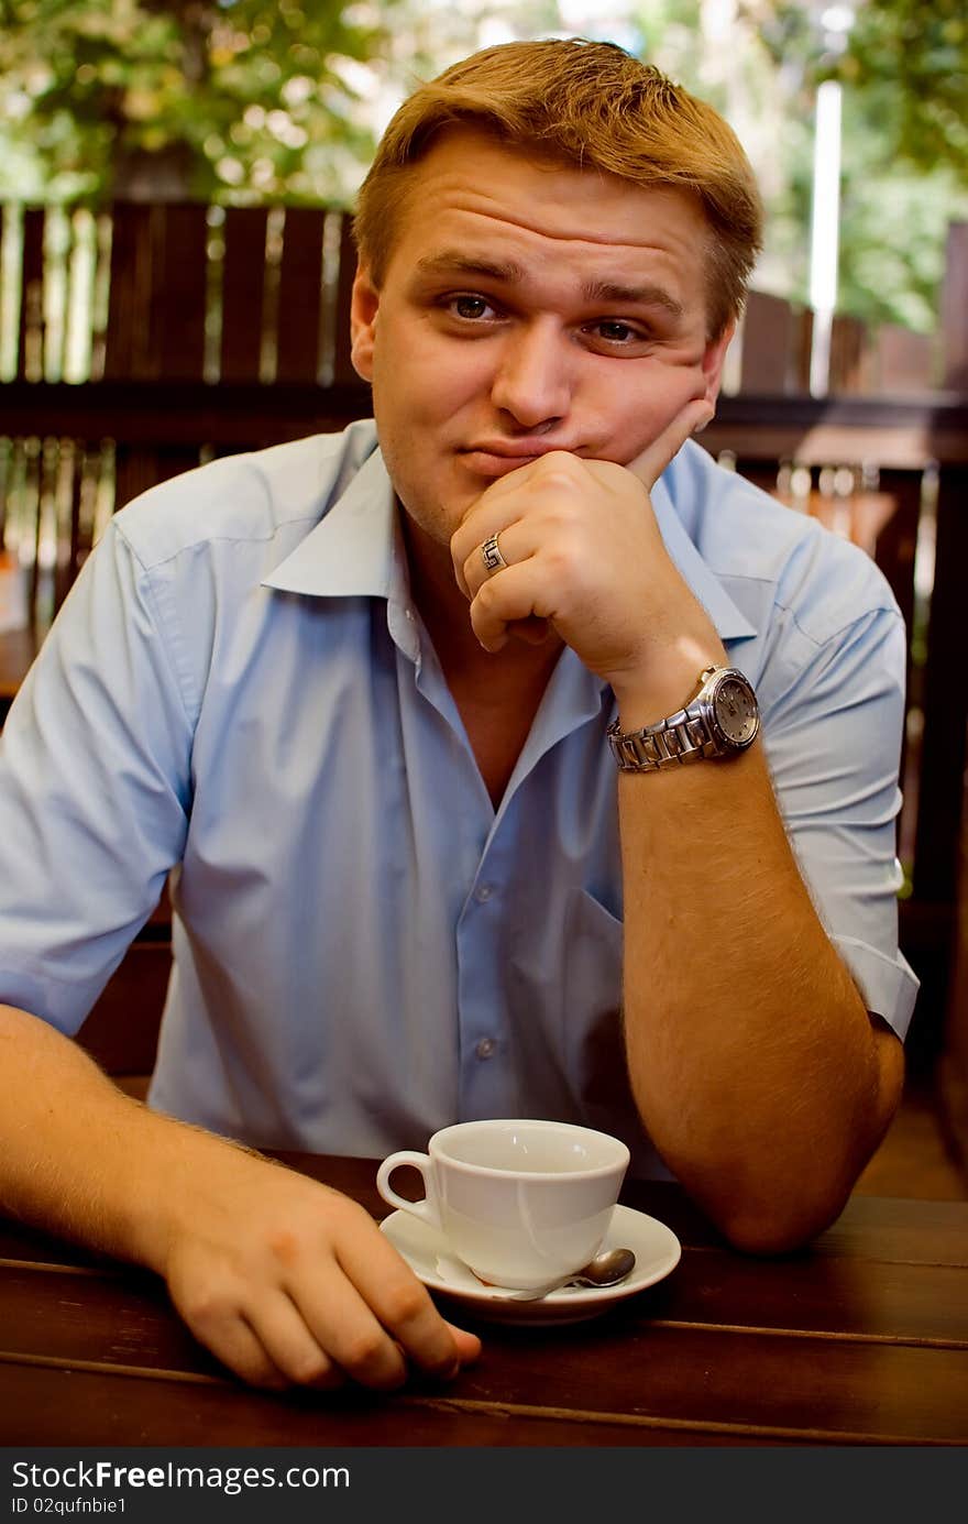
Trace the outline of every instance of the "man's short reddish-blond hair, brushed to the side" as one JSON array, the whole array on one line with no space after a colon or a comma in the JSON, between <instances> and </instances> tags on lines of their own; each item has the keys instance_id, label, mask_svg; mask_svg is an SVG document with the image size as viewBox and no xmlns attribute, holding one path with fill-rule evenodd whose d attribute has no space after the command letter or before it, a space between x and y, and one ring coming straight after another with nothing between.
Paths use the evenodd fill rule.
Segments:
<instances>
[{"instance_id":1,"label":"man's short reddish-blond hair, brushed to the side","mask_svg":"<svg viewBox=\"0 0 968 1524\"><path fill-rule=\"evenodd\" d=\"M762 244L762 207L736 134L704 101L614 43L505 43L419 85L387 126L357 201L361 261L380 287L410 166L450 125L477 126L578 168L694 192L709 224L707 331L738 317Z\"/></svg>"}]
</instances>

